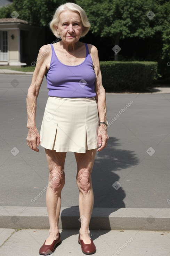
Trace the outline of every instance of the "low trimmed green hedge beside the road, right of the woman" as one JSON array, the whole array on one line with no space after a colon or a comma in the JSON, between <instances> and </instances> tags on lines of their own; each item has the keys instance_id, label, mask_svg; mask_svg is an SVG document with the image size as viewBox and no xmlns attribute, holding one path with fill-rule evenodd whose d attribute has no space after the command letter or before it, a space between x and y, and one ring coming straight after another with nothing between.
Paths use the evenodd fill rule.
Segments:
<instances>
[{"instance_id":1,"label":"low trimmed green hedge beside the road, right of the woman","mask_svg":"<svg viewBox=\"0 0 170 256\"><path fill-rule=\"evenodd\" d=\"M158 77L157 62L100 61L106 92L144 91Z\"/></svg>"}]
</instances>

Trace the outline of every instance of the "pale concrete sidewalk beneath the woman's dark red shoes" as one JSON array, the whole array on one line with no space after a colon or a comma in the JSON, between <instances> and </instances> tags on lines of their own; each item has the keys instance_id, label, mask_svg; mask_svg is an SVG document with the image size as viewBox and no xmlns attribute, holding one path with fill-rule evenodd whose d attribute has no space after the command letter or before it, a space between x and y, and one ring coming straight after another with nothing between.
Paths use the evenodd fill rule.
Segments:
<instances>
[{"instance_id":1,"label":"pale concrete sidewalk beneath the woman's dark red shoes","mask_svg":"<svg viewBox=\"0 0 170 256\"><path fill-rule=\"evenodd\" d=\"M78 244L79 230L60 230L62 244L51 255L83 256ZM0 229L0 255L38 256L48 237L47 229ZM91 231L97 251L95 256L169 256L169 232L133 230Z\"/></svg>"}]
</instances>

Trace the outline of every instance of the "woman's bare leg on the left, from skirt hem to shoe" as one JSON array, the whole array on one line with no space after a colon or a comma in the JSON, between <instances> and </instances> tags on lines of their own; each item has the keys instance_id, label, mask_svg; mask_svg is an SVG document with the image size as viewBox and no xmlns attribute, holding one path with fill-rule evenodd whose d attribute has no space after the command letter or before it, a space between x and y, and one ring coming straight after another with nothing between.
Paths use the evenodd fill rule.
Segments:
<instances>
[{"instance_id":1,"label":"woman's bare leg on the left, from skirt hem to shoe","mask_svg":"<svg viewBox=\"0 0 170 256\"><path fill-rule=\"evenodd\" d=\"M59 236L59 214L61 208L61 192L65 183L64 163L66 152L45 149L49 168L49 187L46 193L46 205L49 218L49 238L45 244L51 244Z\"/></svg>"}]
</instances>

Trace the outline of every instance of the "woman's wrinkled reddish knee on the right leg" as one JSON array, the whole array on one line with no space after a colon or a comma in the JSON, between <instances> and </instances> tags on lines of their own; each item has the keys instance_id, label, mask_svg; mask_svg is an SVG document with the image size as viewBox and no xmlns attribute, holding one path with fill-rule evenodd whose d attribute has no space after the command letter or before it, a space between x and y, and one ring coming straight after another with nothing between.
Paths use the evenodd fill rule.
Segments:
<instances>
[{"instance_id":1,"label":"woman's wrinkled reddish knee on the right leg","mask_svg":"<svg viewBox=\"0 0 170 256\"><path fill-rule=\"evenodd\" d=\"M91 188L91 173L88 171L88 169L83 169L79 171L76 182L79 189L84 194L87 194L89 189Z\"/></svg>"}]
</instances>

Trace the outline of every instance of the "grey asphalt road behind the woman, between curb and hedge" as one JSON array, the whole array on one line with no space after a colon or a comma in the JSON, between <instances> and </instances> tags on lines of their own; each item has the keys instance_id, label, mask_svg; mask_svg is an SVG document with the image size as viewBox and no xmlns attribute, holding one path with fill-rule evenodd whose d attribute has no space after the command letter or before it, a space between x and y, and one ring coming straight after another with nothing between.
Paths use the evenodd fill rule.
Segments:
<instances>
[{"instance_id":1,"label":"grey asphalt road behind the woman, between curb and hedge","mask_svg":"<svg viewBox=\"0 0 170 256\"><path fill-rule=\"evenodd\" d=\"M0 205L46 206L48 166L44 148L27 147L26 94L31 75L0 79ZM40 131L48 98L44 79L36 124ZM92 172L94 207L170 207L170 94L108 94L108 145L97 152ZM62 207L78 205L73 152L65 162ZM44 189L45 190L45 189ZM34 202L33 202L34 201Z\"/></svg>"}]
</instances>

